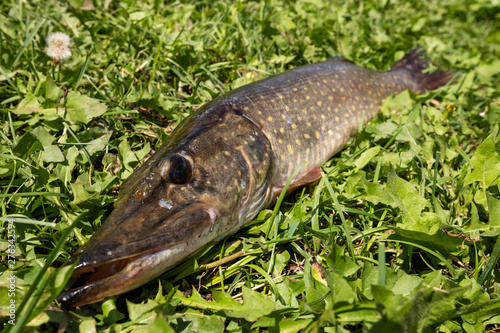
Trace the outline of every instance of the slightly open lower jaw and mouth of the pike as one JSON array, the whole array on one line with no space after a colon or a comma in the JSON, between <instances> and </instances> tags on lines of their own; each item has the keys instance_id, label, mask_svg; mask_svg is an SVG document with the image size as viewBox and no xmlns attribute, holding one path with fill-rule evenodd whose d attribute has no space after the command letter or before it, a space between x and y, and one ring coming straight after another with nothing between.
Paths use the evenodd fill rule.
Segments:
<instances>
[{"instance_id":1,"label":"slightly open lower jaw and mouth of the pike","mask_svg":"<svg viewBox=\"0 0 500 333\"><path fill-rule=\"evenodd\" d=\"M169 228L168 232L121 244L113 239L102 241L111 237L105 227L66 264L76 263L68 284L71 287L57 300L66 307L86 305L151 281L211 242L217 236L212 232L217 215L213 209L196 209L175 219L177 230Z\"/></svg>"}]
</instances>

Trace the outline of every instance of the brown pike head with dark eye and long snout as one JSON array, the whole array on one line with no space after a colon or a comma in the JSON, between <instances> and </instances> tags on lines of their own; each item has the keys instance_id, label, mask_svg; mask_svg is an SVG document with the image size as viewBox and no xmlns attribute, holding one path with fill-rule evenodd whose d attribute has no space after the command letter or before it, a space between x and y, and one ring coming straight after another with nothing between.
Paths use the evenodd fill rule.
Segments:
<instances>
[{"instance_id":1,"label":"brown pike head with dark eye and long snout","mask_svg":"<svg viewBox=\"0 0 500 333\"><path fill-rule=\"evenodd\" d=\"M269 187L267 139L234 112L199 118L123 183L109 218L68 262L76 266L71 289L58 297L63 305L134 289L262 208L247 203Z\"/></svg>"}]
</instances>

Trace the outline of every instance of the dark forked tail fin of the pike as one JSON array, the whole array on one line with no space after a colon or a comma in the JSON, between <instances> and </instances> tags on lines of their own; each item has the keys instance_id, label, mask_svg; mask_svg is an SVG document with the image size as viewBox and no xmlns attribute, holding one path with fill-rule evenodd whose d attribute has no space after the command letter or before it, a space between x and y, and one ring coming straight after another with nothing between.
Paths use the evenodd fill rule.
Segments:
<instances>
[{"instance_id":1,"label":"dark forked tail fin of the pike","mask_svg":"<svg viewBox=\"0 0 500 333\"><path fill-rule=\"evenodd\" d=\"M402 59L392 66L391 71L406 70L411 72L421 91L434 90L447 84L457 73L455 71L435 71L422 73L426 69L428 58L422 58L425 50L420 46L408 52Z\"/></svg>"}]
</instances>

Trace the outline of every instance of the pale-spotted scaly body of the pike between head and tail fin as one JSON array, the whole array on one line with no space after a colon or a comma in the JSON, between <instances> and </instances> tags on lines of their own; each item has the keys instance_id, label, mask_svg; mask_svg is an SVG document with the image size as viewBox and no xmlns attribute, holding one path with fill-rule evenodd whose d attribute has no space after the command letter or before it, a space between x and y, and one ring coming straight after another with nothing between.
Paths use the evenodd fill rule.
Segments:
<instances>
[{"instance_id":1,"label":"pale-spotted scaly body of the pike between head and tail fin","mask_svg":"<svg viewBox=\"0 0 500 333\"><path fill-rule=\"evenodd\" d=\"M269 139L279 187L300 164L306 163L297 179L341 150L361 123L376 116L384 98L421 90L410 76L334 58L249 84L220 102L243 110Z\"/></svg>"}]
</instances>

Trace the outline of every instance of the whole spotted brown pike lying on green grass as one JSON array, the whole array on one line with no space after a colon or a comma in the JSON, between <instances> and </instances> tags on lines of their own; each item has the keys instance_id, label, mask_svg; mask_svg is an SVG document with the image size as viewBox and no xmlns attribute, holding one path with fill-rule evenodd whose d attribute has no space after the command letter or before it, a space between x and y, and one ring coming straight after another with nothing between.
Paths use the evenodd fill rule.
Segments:
<instances>
[{"instance_id":1,"label":"whole spotted brown pike lying on green grass","mask_svg":"<svg viewBox=\"0 0 500 333\"><path fill-rule=\"evenodd\" d=\"M422 73L417 48L387 72L335 57L247 84L199 108L121 186L115 209L77 250L77 283L58 300L101 301L161 275L223 239L290 188L316 181L382 101L433 90L450 71Z\"/></svg>"}]
</instances>

